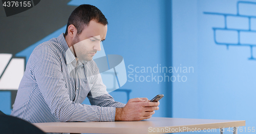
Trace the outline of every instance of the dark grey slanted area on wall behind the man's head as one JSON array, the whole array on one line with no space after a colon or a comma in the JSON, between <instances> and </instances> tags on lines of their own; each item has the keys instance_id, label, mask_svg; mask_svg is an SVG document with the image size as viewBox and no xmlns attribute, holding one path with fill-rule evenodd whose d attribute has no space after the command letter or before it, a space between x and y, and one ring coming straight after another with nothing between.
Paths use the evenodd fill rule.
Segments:
<instances>
[{"instance_id":1,"label":"dark grey slanted area on wall behind the man's head","mask_svg":"<svg viewBox=\"0 0 256 134\"><path fill-rule=\"evenodd\" d=\"M76 8L67 5L70 0L33 2L36 5L34 8L9 17L6 17L4 7L0 6L0 53L15 55L45 38L66 25Z\"/></svg>"}]
</instances>

